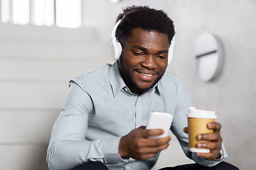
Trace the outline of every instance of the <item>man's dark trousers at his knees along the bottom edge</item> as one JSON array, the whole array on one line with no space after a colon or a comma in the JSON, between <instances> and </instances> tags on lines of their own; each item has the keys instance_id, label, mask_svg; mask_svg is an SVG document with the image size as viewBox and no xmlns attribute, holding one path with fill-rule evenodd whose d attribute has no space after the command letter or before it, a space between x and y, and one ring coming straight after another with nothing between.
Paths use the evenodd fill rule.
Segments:
<instances>
[{"instance_id":1,"label":"man's dark trousers at his knees along the bottom edge","mask_svg":"<svg viewBox=\"0 0 256 170\"><path fill-rule=\"evenodd\" d=\"M107 170L107 166L100 162L85 162L84 164L80 164L72 170ZM137 170L137 169L132 169ZM138 169L139 170L139 169ZM166 167L159 170L239 170L237 167L232 164L228 164L227 162L220 162L216 166L206 167L198 164L184 164L175 167Z\"/></svg>"}]
</instances>

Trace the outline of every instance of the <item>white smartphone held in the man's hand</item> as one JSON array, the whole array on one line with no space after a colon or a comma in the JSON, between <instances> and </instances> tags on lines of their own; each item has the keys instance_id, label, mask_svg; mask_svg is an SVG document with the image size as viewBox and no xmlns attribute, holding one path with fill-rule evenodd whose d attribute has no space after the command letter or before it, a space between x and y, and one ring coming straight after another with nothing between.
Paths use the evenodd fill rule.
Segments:
<instances>
[{"instance_id":1,"label":"white smartphone held in the man's hand","mask_svg":"<svg viewBox=\"0 0 256 170\"><path fill-rule=\"evenodd\" d=\"M169 129L171 128L173 118L174 115L171 115L171 113L151 112L149 115L149 120L146 124L146 129L163 129L164 134L151 136L149 139L166 137Z\"/></svg>"}]
</instances>

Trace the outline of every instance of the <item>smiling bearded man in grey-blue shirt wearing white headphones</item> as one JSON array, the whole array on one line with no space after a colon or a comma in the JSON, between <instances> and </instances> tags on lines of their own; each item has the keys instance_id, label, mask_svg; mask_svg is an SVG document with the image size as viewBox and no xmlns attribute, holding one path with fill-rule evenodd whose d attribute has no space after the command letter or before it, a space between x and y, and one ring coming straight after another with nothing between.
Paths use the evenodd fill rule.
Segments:
<instances>
[{"instance_id":1,"label":"smiling bearded man in grey-blue shirt wearing white headphones","mask_svg":"<svg viewBox=\"0 0 256 170\"><path fill-rule=\"evenodd\" d=\"M146 130L151 111L174 115L171 131L196 162L166 169L237 169L223 162L227 154L219 123L208 124L213 133L198 135L198 140L209 142L197 147L210 153L188 151L186 113L191 99L181 79L166 72L175 34L166 13L146 6L124 8L113 33L117 62L70 80L50 138L49 169L151 169L171 140L149 139L163 133Z\"/></svg>"}]
</instances>

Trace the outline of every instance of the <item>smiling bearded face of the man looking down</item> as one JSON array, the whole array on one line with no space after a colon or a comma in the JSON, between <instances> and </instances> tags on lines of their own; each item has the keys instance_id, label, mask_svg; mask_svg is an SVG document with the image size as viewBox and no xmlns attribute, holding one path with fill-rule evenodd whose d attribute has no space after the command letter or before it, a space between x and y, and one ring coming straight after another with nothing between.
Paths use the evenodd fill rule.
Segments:
<instances>
[{"instance_id":1,"label":"smiling bearded face of the man looking down","mask_svg":"<svg viewBox=\"0 0 256 170\"><path fill-rule=\"evenodd\" d=\"M135 94L143 94L164 75L168 63L167 34L134 28L119 60L124 83Z\"/></svg>"}]
</instances>

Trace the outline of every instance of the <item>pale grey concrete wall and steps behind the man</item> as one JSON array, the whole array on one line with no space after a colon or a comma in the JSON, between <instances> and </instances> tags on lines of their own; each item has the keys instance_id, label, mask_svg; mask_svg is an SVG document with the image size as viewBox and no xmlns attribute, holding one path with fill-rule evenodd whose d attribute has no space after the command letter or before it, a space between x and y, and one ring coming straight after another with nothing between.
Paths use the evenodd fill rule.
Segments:
<instances>
[{"instance_id":1,"label":"pale grey concrete wall and steps behind the man","mask_svg":"<svg viewBox=\"0 0 256 170\"><path fill-rule=\"evenodd\" d=\"M254 169L256 1L83 2L85 28L78 30L0 24L0 169L46 169L50 130L63 106L68 79L112 62L112 26L121 8L131 4L161 8L175 21L169 69L183 77L197 108L218 114L227 161ZM218 35L225 49L220 77L210 83L198 79L193 57L196 39L206 31ZM154 169L191 162L171 137Z\"/></svg>"}]
</instances>

